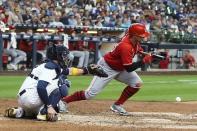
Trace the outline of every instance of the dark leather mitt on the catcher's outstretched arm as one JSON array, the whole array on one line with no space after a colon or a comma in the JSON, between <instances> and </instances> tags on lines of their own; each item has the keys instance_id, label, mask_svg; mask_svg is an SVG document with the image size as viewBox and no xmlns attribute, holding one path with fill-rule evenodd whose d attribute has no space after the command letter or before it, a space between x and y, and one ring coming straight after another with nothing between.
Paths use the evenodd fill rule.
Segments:
<instances>
[{"instance_id":1,"label":"dark leather mitt on the catcher's outstretched arm","mask_svg":"<svg viewBox=\"0 0 197 131\"><path fill-rule=\"evenodd\" d=\"M108 74L103 70L103 68L96 64L90 64L84 69L85 74L97 75L99 77L108 77Z\"/></svg>"}]
</instances>

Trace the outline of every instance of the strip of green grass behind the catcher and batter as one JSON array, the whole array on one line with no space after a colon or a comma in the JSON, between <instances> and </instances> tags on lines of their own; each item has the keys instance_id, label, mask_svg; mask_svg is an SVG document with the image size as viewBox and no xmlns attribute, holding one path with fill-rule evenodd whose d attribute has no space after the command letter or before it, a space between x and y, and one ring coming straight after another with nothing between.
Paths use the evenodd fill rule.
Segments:
<instances>
[{"instance_id":1,"label":"strip of green grass behind the catcher and batter","mask_svg":"<svg viewBox=\"0 0 197 131\"><path fill-rule=\"evenodd\" d=\"M183 101L197 100L196 75L141 76L142 89L131 99L136 101L175 101L180 96ZM0 98L16 98L25 76L0 76ZM86 89L91 76L70 76L70 93ZM126 85L115 80L110 82L95 99L117 99Z\"/></svg>"}]
</instances>

